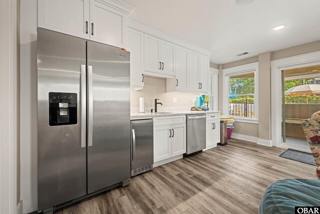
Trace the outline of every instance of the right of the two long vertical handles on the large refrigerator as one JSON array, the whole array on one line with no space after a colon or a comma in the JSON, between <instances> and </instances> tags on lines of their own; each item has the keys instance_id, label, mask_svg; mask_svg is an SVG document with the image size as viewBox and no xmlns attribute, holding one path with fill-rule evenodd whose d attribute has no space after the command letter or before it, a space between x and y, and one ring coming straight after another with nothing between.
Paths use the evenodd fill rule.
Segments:
<instances>
[{"instance_id":1,"label":"right of the two long vertical handles on the large refrigerator","mask_svg":"<svg viewBox=\"0 0 320 214\"><path fill-rule=\"evenodd\" d=\"M88 146L92 146L93 131L93 93L92 93L92 66L88 66Z\"/></svg>"}]
</instances>

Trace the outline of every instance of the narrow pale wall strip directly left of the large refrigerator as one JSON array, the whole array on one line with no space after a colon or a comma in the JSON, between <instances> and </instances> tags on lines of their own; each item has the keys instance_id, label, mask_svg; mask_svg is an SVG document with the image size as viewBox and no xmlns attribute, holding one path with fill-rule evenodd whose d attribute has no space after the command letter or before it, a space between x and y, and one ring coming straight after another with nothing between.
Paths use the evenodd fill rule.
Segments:
<instances>
[{"instance_id":1,"label":"narrow pale wall strip directly left of the large refrigerator","mask_svg":"<svg viewBox=\"0 0 320 214\"><path fill-rule=\"evenodd\" d=\"M37 210L37 1L21 0L20 161L23 212Z\"/></svg>"}]
</instances>

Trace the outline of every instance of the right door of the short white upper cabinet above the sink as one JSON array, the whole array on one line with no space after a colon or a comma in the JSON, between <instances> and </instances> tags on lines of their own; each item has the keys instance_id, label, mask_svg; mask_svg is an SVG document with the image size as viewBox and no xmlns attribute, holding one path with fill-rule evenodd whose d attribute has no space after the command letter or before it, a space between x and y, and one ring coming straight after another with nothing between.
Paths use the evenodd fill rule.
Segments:
<instances>
[{"instance_id":1,"label":"right door of the short white upper cabinet above the sink","mask_svg":"<svg viewBox=\"0 0 320 214\"><path fill-rule=\"evenodd\" d=\"M160 43L160 62L161 74L174 76L174 54L175 47L172 43L161 41Z\"/></svg>"}]
</instances>

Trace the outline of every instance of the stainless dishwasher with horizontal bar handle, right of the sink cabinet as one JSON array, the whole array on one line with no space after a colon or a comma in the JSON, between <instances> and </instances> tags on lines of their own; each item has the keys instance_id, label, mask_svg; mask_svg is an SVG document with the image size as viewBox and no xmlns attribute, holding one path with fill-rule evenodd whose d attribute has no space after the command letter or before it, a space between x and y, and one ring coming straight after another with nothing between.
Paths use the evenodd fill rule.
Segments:
<instances>
[{"instance_id":1,"label":"stainless dishwasher with horizontal bar handle, right of the sink cabinet","mask_svg":"<svg viewBox=\"0 0 320 214\"><path fill-rule=\"evenodd\" d=\"M186 154L205 149L205 114L186 115Z\"/></svg>"}]
</instances>

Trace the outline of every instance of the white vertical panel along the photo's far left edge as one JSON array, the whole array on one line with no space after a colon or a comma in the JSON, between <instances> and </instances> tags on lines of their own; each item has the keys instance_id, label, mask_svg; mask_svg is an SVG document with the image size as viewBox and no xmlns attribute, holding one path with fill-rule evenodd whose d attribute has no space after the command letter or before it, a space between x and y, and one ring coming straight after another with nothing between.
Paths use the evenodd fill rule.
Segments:
<instances>
[{"instance_id":1,"label":"white vertical panel along the photo's far left edge","mask_svg":"<svg viewBox=\"0 0 320 214\"><path fill-rule=\"evenodd\" d=\"M0 1L0 213L16 213L16 1Z\"/></svg>"}]
</instances>

